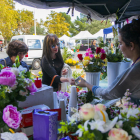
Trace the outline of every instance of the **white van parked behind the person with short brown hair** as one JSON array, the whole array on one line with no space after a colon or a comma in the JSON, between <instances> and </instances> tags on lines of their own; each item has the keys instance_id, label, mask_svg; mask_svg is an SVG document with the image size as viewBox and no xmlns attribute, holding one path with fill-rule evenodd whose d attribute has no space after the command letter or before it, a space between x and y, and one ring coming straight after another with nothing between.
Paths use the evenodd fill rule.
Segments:
<instances>
[{"instance_id":1,"label":"white van parked behind the person with short brown hair","mask_svg":"<svg viewBox=\"0 0 140 140\"><path fill-rule=\"evenodd\" d=\"M27 65L31 65L34 70L40 68L44 37L41 35L18 35L11 38L11 41L20 40L27 44L29 51L23 61Z\"/></svg>"}]
</instances>

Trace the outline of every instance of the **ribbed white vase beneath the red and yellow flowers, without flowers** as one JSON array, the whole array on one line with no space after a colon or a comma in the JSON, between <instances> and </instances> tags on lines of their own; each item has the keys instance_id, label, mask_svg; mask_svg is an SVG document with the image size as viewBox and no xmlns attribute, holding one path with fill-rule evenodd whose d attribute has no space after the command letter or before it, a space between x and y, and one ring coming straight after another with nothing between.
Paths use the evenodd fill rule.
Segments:
<instances>
[{"instance_id":1,"label":"ribbed white vase beneath the red and yellow flowers, without flowers","mask_svg":"<svg viewBox=\"0 0 140 140\"><path fill-rule=\"evenodd\" d=\"M86 72L86 81L92 85L99 86L101 72Z\"/></svg>"}]
</instances>

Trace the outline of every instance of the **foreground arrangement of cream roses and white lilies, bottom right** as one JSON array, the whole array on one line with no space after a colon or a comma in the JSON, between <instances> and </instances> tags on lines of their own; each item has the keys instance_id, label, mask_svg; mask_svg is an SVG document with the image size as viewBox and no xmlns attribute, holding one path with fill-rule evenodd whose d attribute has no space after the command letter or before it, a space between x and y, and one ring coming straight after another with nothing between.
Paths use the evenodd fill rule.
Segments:
<instances>
[{"instance_id":1,"label":"foreground arrangement of cream roses and white lilies, bottom right","mask_svg":"<svg viewBox=\"0 0 140 140\"><path fill-rule=\"evenodd\" d=\"M61 122L59 132L79 140L139 140L140 107L128 102L130 95L127 90L123 108L90 103L82 105L79 111L73 108L70 122Z\"/></svg>"}]
</instances>

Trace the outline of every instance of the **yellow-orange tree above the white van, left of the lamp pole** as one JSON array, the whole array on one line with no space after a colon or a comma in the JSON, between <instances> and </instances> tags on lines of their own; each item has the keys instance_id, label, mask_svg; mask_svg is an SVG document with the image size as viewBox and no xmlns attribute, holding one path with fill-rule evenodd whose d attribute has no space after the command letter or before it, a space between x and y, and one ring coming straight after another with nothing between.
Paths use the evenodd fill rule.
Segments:
<instances>
[{"instance_id":1,"label":"yellow-orange tree above the white van, left of the lamp pole","mask_svg":"<svg viewBox=\"0 0 140 140\"><path fill-rule=\"evenodd\" d=\"M30 28L34 26L34 16L32 11L28 10L17 10L18 19L17 19L17 29L15 35L17 34L29 34Z\"/></svg>"}]
</instances>

